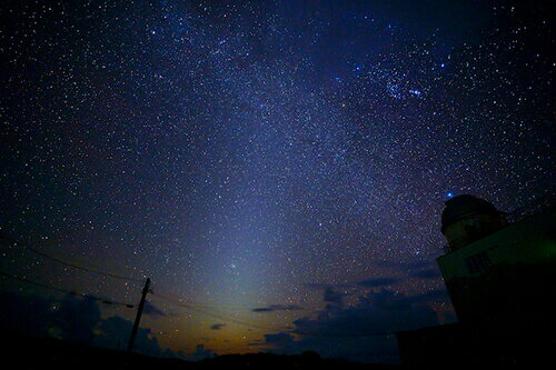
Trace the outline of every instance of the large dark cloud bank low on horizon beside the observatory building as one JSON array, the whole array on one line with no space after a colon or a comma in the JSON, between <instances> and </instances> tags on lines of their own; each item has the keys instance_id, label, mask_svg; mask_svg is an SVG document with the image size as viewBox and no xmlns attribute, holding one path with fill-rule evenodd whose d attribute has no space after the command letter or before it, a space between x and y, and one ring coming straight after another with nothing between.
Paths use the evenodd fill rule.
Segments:
<instances>
[{"instance_id":1,"label":"large dark cloud bank low on horizon beside the observatory building","mask_svg":"<svg viewBox=\"0 0 556 370\"><path fill-rule=\"evenodd\" d=\"M294 321L292 333L268 333L265 342L280 353L319 352L325 358L364 362L397 362L396 331L435 326L438 318L428 306L438 292L406 296L388 289L360 296L344 307L342 294L327 289L328 304L315 318Z\"/></svg>"}]
</instances>

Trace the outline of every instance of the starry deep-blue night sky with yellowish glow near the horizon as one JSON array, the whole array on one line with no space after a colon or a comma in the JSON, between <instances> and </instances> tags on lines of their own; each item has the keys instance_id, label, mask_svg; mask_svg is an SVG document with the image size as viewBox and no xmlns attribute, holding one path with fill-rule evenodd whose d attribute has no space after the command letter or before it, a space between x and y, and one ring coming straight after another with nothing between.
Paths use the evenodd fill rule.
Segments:
<instances>
[{"instance_id":1,"label":"starry deep-blue night sky with yellowish glow near the horizon","mask_svg":"<svg viewBox=\"0 0 556 370\"><path fill-rule=\"evenodd\" d=\"M444 201L553 183L548 3L2 1L1 270L149 277L162 349L394 359L455 320Z\"/></svg>"}]
</instances>

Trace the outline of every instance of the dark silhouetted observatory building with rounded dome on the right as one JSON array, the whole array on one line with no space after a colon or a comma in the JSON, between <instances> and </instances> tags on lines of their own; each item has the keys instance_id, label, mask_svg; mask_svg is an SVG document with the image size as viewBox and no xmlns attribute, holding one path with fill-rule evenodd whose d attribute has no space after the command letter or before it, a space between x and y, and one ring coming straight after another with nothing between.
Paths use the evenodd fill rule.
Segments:
<instances>
[{"instance_id":1,"label":"dark silhouetted observatory building with rounded dome on the right","mask_svg":"<svg viewBox=\"0 0 556 370\"><path fill-rule=\"evenodd\" d=\"M397 333L404 363L530 363L556 350L554 197L507 214L459 196L446 202L437 258L458 322ZM554 361L554 360L553 360Z\"/></svg>"}]
</instances>

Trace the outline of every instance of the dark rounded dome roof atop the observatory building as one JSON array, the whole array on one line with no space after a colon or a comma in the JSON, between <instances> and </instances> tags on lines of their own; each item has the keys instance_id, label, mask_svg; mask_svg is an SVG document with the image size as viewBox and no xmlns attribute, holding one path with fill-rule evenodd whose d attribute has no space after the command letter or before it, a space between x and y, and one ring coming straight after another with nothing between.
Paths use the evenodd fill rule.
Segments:
<instances>
[{"instance_id":1,"label":"dark rounded dome roof atop the observatory building","mask_svg":"<svg viewBox=\"0 0 556 370\"><path fill-rule=\"evenodd\" d=\"M443 211L443 232L451 223L469 216L500 213L493 203L474 196L457 196L446 201L445 204L446 208Z\"/></svg>"}]
</instances>

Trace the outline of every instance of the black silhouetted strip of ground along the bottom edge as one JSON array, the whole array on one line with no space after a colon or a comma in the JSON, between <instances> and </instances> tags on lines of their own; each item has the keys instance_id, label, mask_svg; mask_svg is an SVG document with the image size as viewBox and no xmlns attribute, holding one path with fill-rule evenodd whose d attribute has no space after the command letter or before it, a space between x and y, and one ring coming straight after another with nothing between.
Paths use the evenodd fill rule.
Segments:
<instances>
[{"instance_id":1,"label":"black silhouetted strip of ground along the bottom edge","mask_svg":"<svg viewBox=\"0 0 556 370\"><path fill-rule=\"evenodd\" d=\"M2 348L2 362L14 366L98 369L375 369L387 364L364 364L321 359L317 353L279 356L270 353L227 354L199 362L153 358L89 347L51 338L12 337Z\"/></svg>"}]
</instances>

